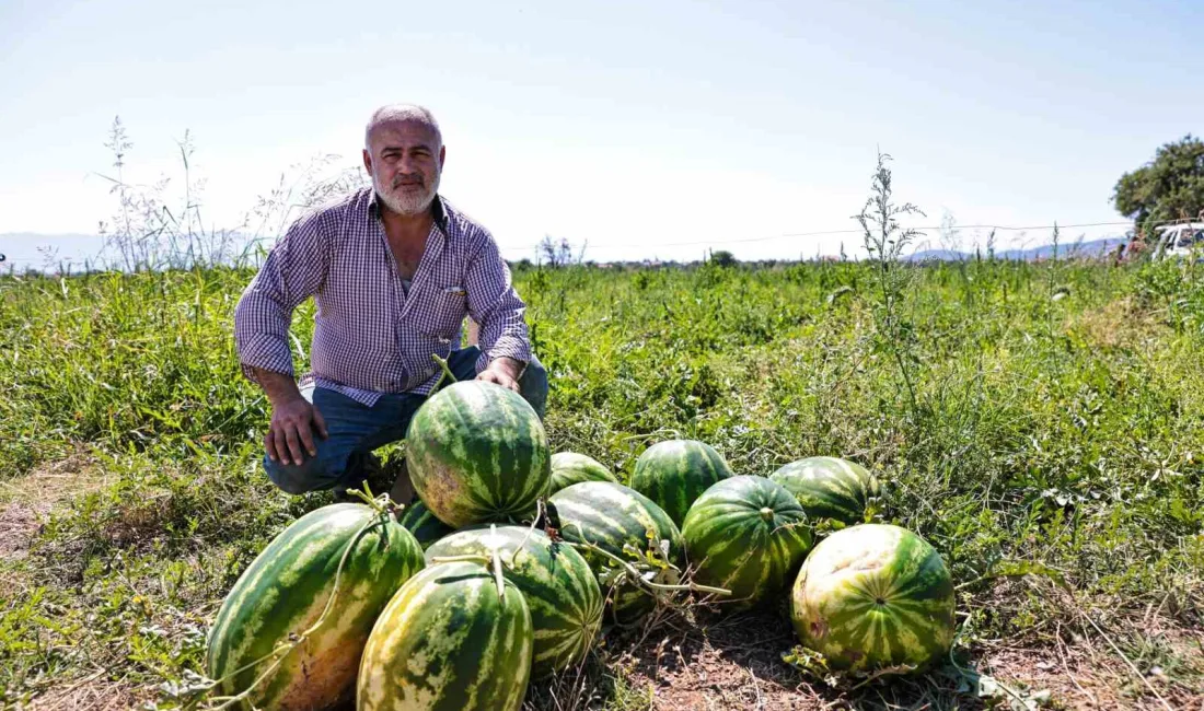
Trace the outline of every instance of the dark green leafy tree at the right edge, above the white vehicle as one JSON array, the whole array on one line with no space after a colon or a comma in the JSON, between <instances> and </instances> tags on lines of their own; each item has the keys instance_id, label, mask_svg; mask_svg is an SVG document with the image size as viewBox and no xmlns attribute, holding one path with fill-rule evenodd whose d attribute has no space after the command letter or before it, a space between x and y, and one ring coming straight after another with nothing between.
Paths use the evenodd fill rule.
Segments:
<instances>
[{"instance_id":1,"label":"dark green leafy tree at the right edge, above the white vehicle","mask_svg":"<svg viewBox=\"0 0 1204 711\"><path fill-rule=\"evenodd\" d=\"M1138 227L1199 217L1204 211L1204 141L1188 134L1159 148L1153 160L1121 176L1112 203Z\"/></svg>"}]
</instances>

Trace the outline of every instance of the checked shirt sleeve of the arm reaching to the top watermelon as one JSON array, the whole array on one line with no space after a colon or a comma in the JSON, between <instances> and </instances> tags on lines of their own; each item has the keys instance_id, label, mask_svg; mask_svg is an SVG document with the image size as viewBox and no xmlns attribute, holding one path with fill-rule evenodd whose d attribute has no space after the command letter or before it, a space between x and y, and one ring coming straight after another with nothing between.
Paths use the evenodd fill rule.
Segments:
<instances>
[{"instance_id":1,"label":"checked shirt sleeve of the arm reaching to the top watermelon","mask_svg":"<svg viewBox=\"0 0 1204 711\"><path fill-rule=\"evenodd\" d=\"M524 320L526 304L514 290L510 269L488 232L483 235L480 248L468 262L465 280L468 315L480 324L477 372L484 371L494 359L500 357L530 362L531 342Z\"/></svg>"}]
</instances>

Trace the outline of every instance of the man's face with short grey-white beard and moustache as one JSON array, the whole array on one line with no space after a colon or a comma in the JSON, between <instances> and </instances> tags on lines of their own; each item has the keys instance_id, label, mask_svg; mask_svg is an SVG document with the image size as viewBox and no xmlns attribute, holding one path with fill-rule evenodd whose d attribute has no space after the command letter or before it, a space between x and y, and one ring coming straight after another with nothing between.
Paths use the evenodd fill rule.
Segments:
<instances>
[{"instance_id":1,"label":"man's face with short grey-white beard and moustache","mask_svg":"<svg viewBox=\"0 0 1204 711\"><path fill-rule=\"evenodd\" d=\"M389 122L372 129L364 167L389 209L415 215L430 208L445 155L438 143L435 131L420 122Z\"/></svg>"}]
</instances>

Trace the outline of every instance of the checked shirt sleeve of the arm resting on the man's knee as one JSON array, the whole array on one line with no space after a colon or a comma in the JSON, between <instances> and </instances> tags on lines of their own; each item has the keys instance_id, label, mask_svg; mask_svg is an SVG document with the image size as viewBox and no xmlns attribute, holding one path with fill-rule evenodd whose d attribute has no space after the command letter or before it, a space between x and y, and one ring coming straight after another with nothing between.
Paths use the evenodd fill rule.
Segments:
<instances>
[{"instance_id":1,"label":"checked shirt sleeve of the arm resting on the man's knee","mask_svg":"<svg viewBox=\"0 0 1204 711\"><path fill-rule=\"evenodd\" d=\"M293 375L289 324L293 310L321 289L329 267L320 213L289 227L247 285L234 314L234 338L243 374L252 368Z\"/></svg>"}]
</instances>

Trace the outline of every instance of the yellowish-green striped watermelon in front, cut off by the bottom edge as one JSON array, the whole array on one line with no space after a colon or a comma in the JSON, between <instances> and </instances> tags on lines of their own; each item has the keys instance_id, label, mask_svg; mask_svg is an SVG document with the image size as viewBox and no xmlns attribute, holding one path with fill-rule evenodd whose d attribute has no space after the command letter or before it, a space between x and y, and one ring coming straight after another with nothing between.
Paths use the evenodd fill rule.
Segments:
<instances>
[{"instance_id":1,"label":"yellowish-green striped watermelon in front, cut off by the bottom edge","mask_svg":"<svg viewBox=\"0 0 1204 711\"><path fill-rule=\"evenodd\" d=\"M479 563L441 563L412 577L364 648L358 711L517 711L535 648L518 587Z\"/></svg>"}]
</instances>

